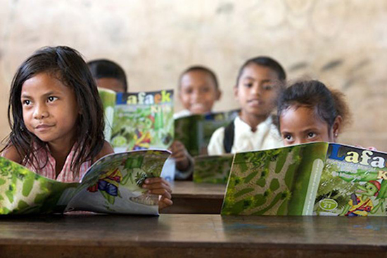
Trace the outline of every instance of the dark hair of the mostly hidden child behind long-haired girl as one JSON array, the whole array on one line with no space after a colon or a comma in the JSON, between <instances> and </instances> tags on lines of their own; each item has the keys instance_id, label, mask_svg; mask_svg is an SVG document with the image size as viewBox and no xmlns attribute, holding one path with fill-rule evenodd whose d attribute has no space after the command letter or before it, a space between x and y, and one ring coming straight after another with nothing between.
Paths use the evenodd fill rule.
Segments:
<instances>
[{"instance_id":1,"label":"dark hair of the mostly hidden child behind long-haired girl","mask_svg":"<svg viewBox=\"0 0 387 258\"><path fill-rule=\"evenodd\" d=\"M118 79L124 85L125 92L127 92L127 77L125 71L113 61L107 59L91 60L87 63L91 71L91 75L95 79L114 78Z\"/></svg>"}]
</instances>

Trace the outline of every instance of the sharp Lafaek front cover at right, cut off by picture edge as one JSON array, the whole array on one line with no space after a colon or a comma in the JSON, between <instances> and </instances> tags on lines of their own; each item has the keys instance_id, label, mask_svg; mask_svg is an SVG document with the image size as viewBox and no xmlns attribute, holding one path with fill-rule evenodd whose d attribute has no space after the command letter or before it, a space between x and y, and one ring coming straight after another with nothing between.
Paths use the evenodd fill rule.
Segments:
<instances>
[{"instance_id":1,"label":"sharp Lafaek front cover at right, cut off by picture edge","mask_svg":"<svg viewBox=\"0 0 387 258\"><path fill-rule=\"evenodd\" d=\"M386 216L387 153L331 143L314 214Z\"/></svg>"}]
</instances>

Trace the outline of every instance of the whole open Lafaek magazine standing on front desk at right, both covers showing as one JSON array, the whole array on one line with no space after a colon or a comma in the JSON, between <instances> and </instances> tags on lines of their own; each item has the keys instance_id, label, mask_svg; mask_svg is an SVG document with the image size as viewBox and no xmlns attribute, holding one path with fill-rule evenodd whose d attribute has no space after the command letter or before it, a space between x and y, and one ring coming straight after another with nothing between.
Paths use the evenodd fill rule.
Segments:
<instances>
[{"instance_id":1,"label":"whole open Lafaek magazine standing on front desk at right, both covers showing","mask_svg":"<svg viewBox=\"0 0 387 258\"><path fill-rule=\"evenodd\" d=\"M386 161L324 142L237 153L222 214L386 216Z\"/></svg>"}]
</instances>

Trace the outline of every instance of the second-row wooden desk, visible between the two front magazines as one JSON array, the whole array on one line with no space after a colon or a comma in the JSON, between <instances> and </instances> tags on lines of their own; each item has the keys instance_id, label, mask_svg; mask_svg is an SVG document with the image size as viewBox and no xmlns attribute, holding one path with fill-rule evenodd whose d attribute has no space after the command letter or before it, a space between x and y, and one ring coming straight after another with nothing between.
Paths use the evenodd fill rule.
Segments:
<instances>
[{"instance_id":1,"label":"second-row wooden desk, visible between the two front magazines","mask_svg":"<svg viewBox=\"0 0 387 258\"><path fill-rule=\"evenodd\" d=\"M167 214L220 214L226 186L213 183L175 181L173 205L163 209Z\"/></svg>"}]
</instances>

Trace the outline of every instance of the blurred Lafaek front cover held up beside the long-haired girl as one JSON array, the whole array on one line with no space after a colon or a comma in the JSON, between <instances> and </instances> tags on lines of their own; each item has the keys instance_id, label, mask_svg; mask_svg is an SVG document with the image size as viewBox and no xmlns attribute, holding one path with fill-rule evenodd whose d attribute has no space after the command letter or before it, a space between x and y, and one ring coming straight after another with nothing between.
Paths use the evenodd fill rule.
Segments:
<instances>
[{"instance_id":1,"label":"blurred Lafaek front cover held up beside the long-haired girl","mask_svg":"<svg viewBox=\"0 0 387 258\"><path fill-rule=\"evenodd\" d=\"M110 139L116 153L166 149L173 138L172 90L117 93Z\"/></svg>"}]
</instances>

